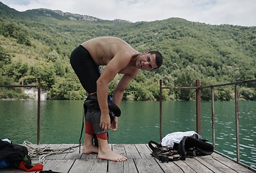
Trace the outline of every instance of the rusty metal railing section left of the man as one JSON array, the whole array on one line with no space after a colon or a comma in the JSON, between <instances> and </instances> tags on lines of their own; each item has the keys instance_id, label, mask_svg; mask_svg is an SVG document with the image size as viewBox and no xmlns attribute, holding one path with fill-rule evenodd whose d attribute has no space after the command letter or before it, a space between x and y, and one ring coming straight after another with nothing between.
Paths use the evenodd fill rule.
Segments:
<instances>
[{"instance_id":1,"label":"rusty metal railing section left of the man","mask_svg":"<svg viewBox=\"0 0 256 173\"><path fill-rule=\"evenodd\" d=\"M37 129L37 144L40 143L40 90L41 90L41 79L38 78L38 85L0 85L0 87L22 87L22 88L37 88L38 89L38 129Z\"/></svg>"}]
</instances>

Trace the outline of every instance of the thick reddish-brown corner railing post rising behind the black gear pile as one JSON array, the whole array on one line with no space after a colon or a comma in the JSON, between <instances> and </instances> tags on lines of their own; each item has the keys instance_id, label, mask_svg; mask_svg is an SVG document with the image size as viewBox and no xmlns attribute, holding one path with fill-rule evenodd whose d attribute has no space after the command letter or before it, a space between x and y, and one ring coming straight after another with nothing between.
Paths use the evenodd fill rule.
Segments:
<instances>
[{"instance_id":1,"label":"thick reddish-brown corner railing post rising behind the black gear pile","mask_svg":"<svg viewBox=\"0 0 256 173\"><path fill-rule=\"evenodd\" d=\"M200 80L197 79L196 80L196 106L197 106L197 133L201 135L201 111L200 111L200 107L201 107L201 94L200 94Z\"/></svg>"}]
</instances>

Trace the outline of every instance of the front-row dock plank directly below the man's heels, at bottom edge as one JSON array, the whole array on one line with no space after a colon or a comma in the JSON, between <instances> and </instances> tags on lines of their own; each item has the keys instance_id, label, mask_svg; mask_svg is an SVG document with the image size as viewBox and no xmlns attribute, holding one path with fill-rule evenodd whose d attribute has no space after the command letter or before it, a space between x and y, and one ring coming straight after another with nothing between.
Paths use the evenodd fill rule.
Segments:
<instances>
[{"instance_id":1,"label":"front-row dock plank directly below the man's heels, at bottom edge","mask_svg":"<svg viewBox=\"0 0 256 173\"><path fill-rule=\"evenodd\" d=\"M70 169L69 173L77 173L77 172L97 172L101 173L107 172L107 164L108 161L106 160L99 160L99 159L80 159L74 161L72 168Z\"/></svg>"}]
</instances>

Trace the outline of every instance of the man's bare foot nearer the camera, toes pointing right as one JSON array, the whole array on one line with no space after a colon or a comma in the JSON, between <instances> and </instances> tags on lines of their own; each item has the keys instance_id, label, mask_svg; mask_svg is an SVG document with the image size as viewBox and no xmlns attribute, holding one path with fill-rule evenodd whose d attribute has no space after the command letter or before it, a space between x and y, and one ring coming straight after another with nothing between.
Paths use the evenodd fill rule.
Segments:
<instances>
[{"instance_id":1,"label":"man's bare foot nearer the camera, toes pointing right","mask_svg":"<svg viewBox=\"0 0 256 173\"><path fill-rule=\"evenodd\" d=\"M110 161L126 161L127 157L116 154L110 148L106 151L98 151L98 159Z\"/></svg>"}]
</instances>

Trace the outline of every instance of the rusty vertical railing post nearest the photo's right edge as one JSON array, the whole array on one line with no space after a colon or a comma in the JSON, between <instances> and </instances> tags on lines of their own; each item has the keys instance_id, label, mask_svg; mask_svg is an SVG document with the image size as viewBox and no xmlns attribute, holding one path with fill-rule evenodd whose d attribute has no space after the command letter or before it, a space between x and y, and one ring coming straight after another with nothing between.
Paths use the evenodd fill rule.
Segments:
<instances>
[{"instance_id":1,"label":"rusty vertical railing post nearest the photo's right edge","mask_svg":"<svg viewBox=\"0 0 256 173\"><path fill-rule=\"evenodd\" d=\"M240 146L239 146L239 108L238 108L238 85L234 85L235 89L235 109L236 109L236 161L240 161Z\"/></svg>"}]
</instances>

